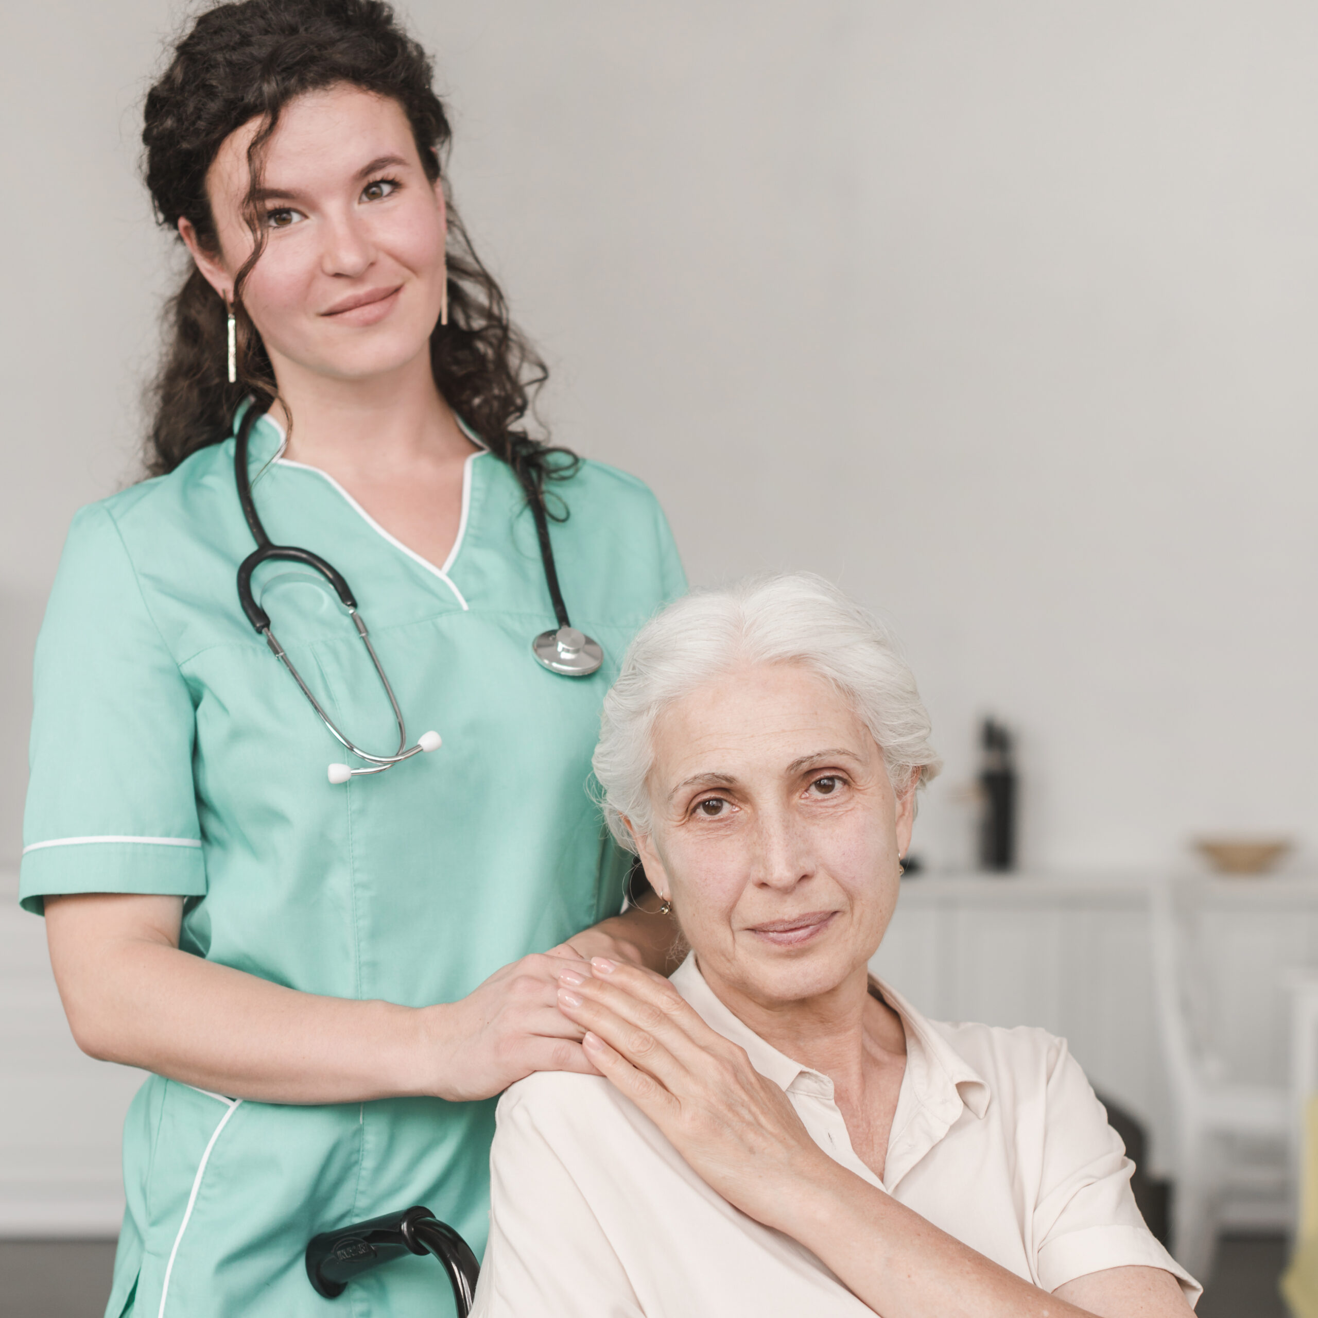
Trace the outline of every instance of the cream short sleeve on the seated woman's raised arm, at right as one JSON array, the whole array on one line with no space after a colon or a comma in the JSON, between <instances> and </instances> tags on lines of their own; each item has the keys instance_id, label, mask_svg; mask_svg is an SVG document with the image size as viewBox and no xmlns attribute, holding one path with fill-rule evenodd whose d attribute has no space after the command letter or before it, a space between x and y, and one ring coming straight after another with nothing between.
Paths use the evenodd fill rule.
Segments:
<instances>
[{"instance_id":1,"label":"cream short sleeve on the seated woman's raised arm, at right","mask_svg":"<svg viewBox=\"0 0 1318 1318\"><path fill-rule=\"evenodd\" d=\"M1193 1305L1203 1288L1144 1224L1131 1193L1135 1164L1066 1041L1053 1041L1035 1239L1040 1284L1056 1290L1107 1268L1161 1268Z\"/></svg>"}]
</instances>

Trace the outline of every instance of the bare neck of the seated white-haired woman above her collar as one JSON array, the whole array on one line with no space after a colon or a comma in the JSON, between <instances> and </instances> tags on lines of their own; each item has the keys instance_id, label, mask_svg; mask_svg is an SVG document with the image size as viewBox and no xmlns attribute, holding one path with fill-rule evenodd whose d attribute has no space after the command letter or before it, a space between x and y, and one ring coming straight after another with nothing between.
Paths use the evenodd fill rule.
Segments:
<instances>
[{"instance_id":1,"label":"bare neck of the seated white-haired woman above her collar","mask_svg":"<svg viewBox=\"0 0 1318 1318\"><path fill-rule=\"evenodd\" d=\"M706 975L705 982L766 1044L828 1075L840 1101L846 1095L858 1099L874 1066L905 1058L902 1019L870 994L865 965L826 992L796 1000L751 996L717 974Z\"/></svg>"}]
</instances>

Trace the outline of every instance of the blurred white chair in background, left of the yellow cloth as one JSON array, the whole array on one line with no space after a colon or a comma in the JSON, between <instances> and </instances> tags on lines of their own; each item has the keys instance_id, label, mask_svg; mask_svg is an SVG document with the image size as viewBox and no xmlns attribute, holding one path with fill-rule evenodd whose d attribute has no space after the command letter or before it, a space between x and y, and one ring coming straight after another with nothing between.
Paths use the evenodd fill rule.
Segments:
<instances>
[{"instance_id":1,"label":"blurred white chair in background, left of the yellow cloth","mask_svg":"<svg viewBox=\"0 0 1318 1318\"><path fill-rule=\"evenodd\" d=\"M1213 1268L1223 1203L1232 1193L1284 1202L1290 1102L1284 1085L1226 1077L1211 1046L1211 999L1195 938L1170 884L1151 894L1153 982L1174 1120L1172 1248L1201 1281Z\"/></svg>"}]
</instances>

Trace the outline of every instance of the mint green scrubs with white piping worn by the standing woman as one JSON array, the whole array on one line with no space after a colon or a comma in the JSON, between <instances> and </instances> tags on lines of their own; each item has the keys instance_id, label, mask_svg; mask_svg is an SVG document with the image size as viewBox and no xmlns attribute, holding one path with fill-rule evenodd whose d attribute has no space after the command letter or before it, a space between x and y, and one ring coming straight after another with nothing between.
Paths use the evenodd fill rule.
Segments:
<instances>
[{"instance_id":1,"label":"mint green scrubs with white piping worn by the standing woman","mask_svg":"<svg viewBox=\"0 0 1318 1318\"><path fill-rule=\"evenodd\" d=\"M273 983L407 1006L453 1002L518 957L616 915L626 863L589 795L600 705L635 630L685 581L639 481L583 463L551 485L563 594L604 647L584 679L542 668L554 614L513 472L468 459L443 568L330 477L252 435L272 539L347 576L411 741L440 750L331 786L349 757L244 617L252 551L233 439L83 509L37 645L21 902L185 899L181 946ZM561 506L556 506L556 501ZM347 613L314 573L264 567L256 596L344 733L398 745ZM423 1203L484 1252L494 1099L327 1107L236 1101L150 1077L124 1126L127 1211L107 1314L297 1318L445 1313L428 1257L335 1301L311 1289L319 1231Z\"/></svg>"}]
</instances>

